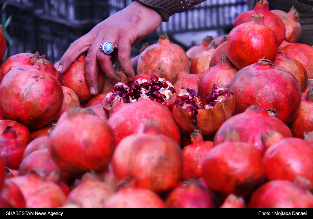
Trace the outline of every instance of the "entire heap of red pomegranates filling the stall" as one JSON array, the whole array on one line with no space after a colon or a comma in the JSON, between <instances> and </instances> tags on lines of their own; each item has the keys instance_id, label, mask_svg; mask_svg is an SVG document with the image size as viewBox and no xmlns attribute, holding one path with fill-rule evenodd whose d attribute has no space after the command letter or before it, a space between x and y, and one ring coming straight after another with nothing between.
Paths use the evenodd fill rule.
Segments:
<instances>
[{"instance_id":1,"label":"entire heap of red pomegranates filling the stall","mask_svg":"<svg viewBox=\"0 0 313 219\"><path fill-rule=\"evenodd\" d=\"M187 53L160 34L96 96L84 54L5 60L0 207L313 207L313 47L268 4Z\"/></svg>"}]
</instances>

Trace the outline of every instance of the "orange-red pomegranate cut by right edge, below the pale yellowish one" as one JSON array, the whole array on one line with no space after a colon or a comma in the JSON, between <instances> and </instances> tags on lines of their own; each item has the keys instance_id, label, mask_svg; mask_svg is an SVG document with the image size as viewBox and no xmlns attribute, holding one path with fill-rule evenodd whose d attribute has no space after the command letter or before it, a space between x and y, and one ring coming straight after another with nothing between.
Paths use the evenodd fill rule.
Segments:
<instances>
[{"instance_id":1,"label":"orange-red pomegranate cut by right edge, below the pale yellowish one","mask_svg":"<svg viewBox=\"0 0 313 219\"><path fill-rule=\"evenodd\" d=\"M304 65L309 79L313 79L313 62L311 59L313 47L295 42L283 47L282 50L288 52L290 58L299 60Z\"/></svg>"}]
</instances>

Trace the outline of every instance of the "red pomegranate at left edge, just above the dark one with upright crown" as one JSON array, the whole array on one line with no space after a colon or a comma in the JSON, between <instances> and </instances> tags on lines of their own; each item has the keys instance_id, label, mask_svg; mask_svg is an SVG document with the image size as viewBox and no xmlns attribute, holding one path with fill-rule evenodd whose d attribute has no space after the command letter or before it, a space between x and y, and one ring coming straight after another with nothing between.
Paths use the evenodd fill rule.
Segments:
<instances>
[{"instance_id":1,"label":"red pomegranate at left edge, just above the dark one with upright crown","mask_svg":"<svg viewBox=\"0 0 313 219\"><path fill-rule=\"evenodd\" d=\"M23 124L10 119L0 120L0 133L4 131L8 126L13 128L16 132L16 138L28 144L30 142L30 133L28 128Z\"/></svg>"}]
</instances>

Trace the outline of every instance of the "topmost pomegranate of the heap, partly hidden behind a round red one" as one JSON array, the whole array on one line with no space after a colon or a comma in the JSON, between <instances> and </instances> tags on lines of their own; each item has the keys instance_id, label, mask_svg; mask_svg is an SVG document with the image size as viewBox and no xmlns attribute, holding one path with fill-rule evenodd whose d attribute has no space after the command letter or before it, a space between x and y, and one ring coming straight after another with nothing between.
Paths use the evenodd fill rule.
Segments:
<instances>
[{"instance_id":1,"label":"topmost pomegranate of the heap, partly hidden behind a round red one","mask_svg":"<svg viewBox=\"0 0 313 219\"><path fill-rule=\"evenodd\" d=\"M280 43L282 43L283 40L285 39L286 27L284 22L281 20L279 16L269 11L269 2L267 2L266 0L260 0L259 2L257 2L252 11L241 13L236 18L233 27L235 28L244 22L250 22L251 16L254 15L255 13L264 15L264 24L274 31L277 37L278 45L280 45ZM267 58L270 59L269 57Z\"/></svg>"}]
</instances>

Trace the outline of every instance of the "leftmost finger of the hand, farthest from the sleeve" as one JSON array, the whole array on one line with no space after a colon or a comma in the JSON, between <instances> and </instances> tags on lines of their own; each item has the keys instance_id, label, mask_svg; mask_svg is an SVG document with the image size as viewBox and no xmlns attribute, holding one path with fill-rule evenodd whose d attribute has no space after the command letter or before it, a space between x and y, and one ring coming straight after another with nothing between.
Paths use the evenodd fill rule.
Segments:
<instances>
[{"instance_id":1,"label":"leftmost finger of the hand, farthest from the sleeve","mask_svg":"<svg viewBox=\"0 0 313 219\"><path fill-rule=\"evenodd\" d=\"M78 40L75 40L61 57L59 67L57 69L58 73L64 74L67 72L69 67L80 56L80 54L86 52L89 49L92 42L93 39L88 34L80 37Z\"/></svg>"}]
</instances>

